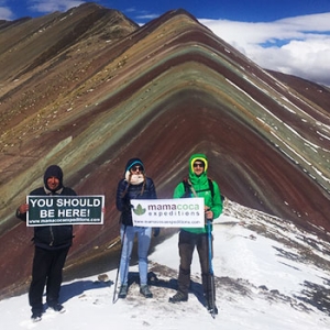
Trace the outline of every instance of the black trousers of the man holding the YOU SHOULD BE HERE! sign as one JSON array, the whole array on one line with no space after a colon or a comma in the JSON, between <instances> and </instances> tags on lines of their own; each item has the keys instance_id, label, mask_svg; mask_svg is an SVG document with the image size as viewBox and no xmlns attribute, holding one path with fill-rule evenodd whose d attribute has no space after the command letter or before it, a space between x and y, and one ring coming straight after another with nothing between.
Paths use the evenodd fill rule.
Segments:
<instances>
[{"instance_id":1,"label":"black trousers of the man holding the YOU SHOULD BE HERE! sign","mask_svg":"<svg viewBox=\"0 0 330 330\"><path fill-rule=\"evenodd\" d=\"M29 290L29 302L32 312L43 311L43 293L46 286L46 301L57 304L62 284L62 273L69 248L45 250L35 246L32 282Z\"/></svg>"}]
</instances>

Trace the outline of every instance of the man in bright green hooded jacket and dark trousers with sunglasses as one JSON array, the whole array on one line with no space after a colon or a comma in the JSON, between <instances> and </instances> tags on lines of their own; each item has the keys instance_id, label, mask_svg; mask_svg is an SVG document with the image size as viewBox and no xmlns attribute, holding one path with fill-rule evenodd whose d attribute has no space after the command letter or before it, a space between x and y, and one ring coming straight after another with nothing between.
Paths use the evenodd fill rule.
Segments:
<instances>
[{"instance_id":1,"label":"man in bright green hooded jacket and dark trousers with sunglasses","mask_svg":"<svg viewBox=\"0 0 330 330\"><path fill-rule=\"evenodd\" d=\"M182 228L179 231L178 250L180 256L178 289L169 298L169 302L179 302L188 300L190 287L190 266L195 246L197 249L201 268L201 282L206 305L208 310L217 307L211 301L213 280L209 270L209 242L207 221L218 218L222 211L222 200L219 186L216 182L210 180L207 175L208 160L205 154L194 154L189 160L189 178L179 183L174 190L174 198L204 197L205 199L205 218L206 226L202 228ZM216 295L213 295L215 297ZM212 307L211 307L212 306Z\"/></svg>"}]
</instances>

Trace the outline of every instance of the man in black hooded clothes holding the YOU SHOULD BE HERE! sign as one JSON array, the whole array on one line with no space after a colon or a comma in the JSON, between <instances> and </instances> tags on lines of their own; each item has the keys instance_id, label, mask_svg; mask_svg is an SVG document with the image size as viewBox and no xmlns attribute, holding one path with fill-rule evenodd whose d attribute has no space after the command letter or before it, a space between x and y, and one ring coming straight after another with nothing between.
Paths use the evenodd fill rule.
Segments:
<instances>
[{"instance_id":1,"label":"man in black hooded clothes holding the YOU SHOULD BE HERE! sign","mask_svg":"<svg viewBox=\"0 0 330 330\"><path fill-rule=\"evenodd\" d=\"M57 165L50 166L44 174L44 186L30 193L30 196L77 196L63 185L63 172ZM16 217L26 221L28 204L16 210ZM34 257L32 282L29 289L29 302L32 307L32 320L40 321L43 308L43 293L46 286L46 302L55 311L64 311L58 302L63 267L73 243L73 226L34 227Z\"/></svg>"}]
</instances>

